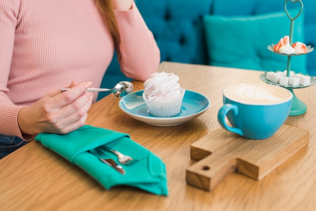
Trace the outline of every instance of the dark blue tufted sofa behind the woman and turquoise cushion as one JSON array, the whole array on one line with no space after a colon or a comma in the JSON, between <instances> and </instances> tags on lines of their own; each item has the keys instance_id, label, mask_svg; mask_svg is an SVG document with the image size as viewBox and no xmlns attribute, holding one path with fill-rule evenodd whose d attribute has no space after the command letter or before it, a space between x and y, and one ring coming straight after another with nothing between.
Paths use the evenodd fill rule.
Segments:
<instances>
[{"instance_id":1,"label":"dark blue tufted sofa behind the woman and turquoise cushion","mask_svg":"<svg viewBox=\"0 0 316 211\"><path fill-rule=\"evenodd\" d=\"M140 13L148 28L152 31L161 50L162 62L172 61L203 65L210 64L203 25L203 17L205 15L233 17L253 16L278 11L284 12L284 2L284 0L135 0ZM302 0L302 2L304 4L303 42L306 45L315 47L316 2L315 0ZM289 9L299 4L289 4L288 2L287 5ZM249 31L251 33L251 29ZM265 45L268 44L271 43L266 43ZM262 51L268 50L263 48ZM271 54L273 53L271 52ZM306 57L304 65L306 64L307 73L315 76L315 51L303 57ZM245 66L245 69L251 68ZM120 80L131 79L126 78L120 72L117 58L114 57L103 79L102 86L112 87ZM103 96L99 95L99 98Z\"/></svg>"}]
</instances>

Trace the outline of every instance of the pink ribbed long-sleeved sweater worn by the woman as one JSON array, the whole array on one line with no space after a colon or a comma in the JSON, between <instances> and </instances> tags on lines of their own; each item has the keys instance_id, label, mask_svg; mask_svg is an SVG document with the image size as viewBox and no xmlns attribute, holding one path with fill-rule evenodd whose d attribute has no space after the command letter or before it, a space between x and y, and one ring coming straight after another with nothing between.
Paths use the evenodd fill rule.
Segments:
<instances>
[{"instance_id":1,"label":"pink ribbed long-sleeved sweater worn by the woman","mask_svg":"<svg viewBox=\"0 0 316 211\"><path fill-rule=\"evenodd\" d=\"M146 80L160 63L152 33L135 4L115 15L121 70ZM20 109L73 80L99 87L113 54L93 0L0 1L0 134L27 140L17 122Z\"/></svg>"}]
</instances>

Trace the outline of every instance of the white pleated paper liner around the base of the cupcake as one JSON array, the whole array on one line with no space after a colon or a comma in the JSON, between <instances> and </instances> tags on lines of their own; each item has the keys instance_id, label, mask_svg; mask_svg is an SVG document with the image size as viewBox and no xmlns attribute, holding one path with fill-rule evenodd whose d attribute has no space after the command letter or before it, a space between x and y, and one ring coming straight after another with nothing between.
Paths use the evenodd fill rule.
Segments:
<instances>
[{"instance_id":1,"label":"white pleated paper liner around the base of the cupcake","mask_svg":"<svg viewBox=\"0 0 316 211\"><path fill-rule=\"evenodd\" d=\"M185 89L181 88L180 93L178 97L170 101L147 100L144 94L143 99L145 100L150 115L155 117L173 117L180 112Z\"/></svg>"}]
</instances>

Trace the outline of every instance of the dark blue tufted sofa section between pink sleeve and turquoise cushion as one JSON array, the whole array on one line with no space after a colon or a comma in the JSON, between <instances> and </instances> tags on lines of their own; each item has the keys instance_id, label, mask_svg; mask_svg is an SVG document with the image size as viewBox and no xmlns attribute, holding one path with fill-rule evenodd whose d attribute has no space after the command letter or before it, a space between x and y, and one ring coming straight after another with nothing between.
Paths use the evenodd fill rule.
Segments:
<instances>
[{"instance_id":1,"label":"dark blue tufted sofa section between pink sleeve and turquoise cushion","mask_svg":"<svg viewBox=\"0 0 316 211\"><path fill-rule=\"evenodd\" d=\"M161 50L161 61L206 64L202 17L212 0L135 0Z\"/></svg>"}]
</instances>

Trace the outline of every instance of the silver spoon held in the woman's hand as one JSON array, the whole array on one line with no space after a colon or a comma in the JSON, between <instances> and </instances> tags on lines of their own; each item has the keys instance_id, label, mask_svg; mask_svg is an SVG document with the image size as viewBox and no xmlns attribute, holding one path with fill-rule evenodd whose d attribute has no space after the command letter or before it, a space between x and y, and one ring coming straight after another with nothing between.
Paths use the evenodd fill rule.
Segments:
<instances>
[{"instance_id":1,"label":"silver spoon held in the woman's hand","mask_svg":"<svg viewBox=\"0 0 316 211\"><path fill-rule=\"evenodd\" d=\"M115 85L113 89L106 89L106 88L89 88L86 89L86 92L91 91L111 91L114 93L116 97L123 97L126 94L130 93L134 89L134 85L129 81L121 81ZM67 91L69 88L61 89L61 92Z\"/></svg>"}]
</instances>

